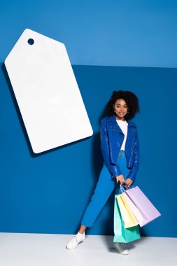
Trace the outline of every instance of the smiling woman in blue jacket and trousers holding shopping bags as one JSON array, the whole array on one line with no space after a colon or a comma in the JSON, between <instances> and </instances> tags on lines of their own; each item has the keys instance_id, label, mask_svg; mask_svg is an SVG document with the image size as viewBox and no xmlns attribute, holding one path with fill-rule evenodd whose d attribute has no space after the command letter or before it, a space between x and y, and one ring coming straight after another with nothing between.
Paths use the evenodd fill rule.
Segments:
<instances>
[{"instance_id":1,"label":"smiling woman in blue jacket and trousers holding shopping bags","mask_svg":"<svg viewBox=\"0 0 177 266\"><path fill-rule=\"evenodd\" d=\"M139 169L139 137L132 118L139 112L139 99L133 92L113 91L106 105L108 116L101 120L101 152L104 165L90 203L83 215L78 233L66 245L76 248L85 239L85 229L92 227L108 197L116 188L120 193L120 183L131 186ZM114 248L127 255L123 243L114 243Z\"/></svg>"}]
</instances>

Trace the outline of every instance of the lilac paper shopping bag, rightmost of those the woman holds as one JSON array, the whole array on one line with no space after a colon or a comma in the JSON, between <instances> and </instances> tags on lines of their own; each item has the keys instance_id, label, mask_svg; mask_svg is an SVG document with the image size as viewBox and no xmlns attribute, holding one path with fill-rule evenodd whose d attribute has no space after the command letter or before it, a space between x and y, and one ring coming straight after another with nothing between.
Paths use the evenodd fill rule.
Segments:
<instances>
[{"instance_id":1,"label":"lilac paper shopping bag, rightmost of those the woman holds","mask_svg":"<svg viewBox=\"0 0 177 266\"><path fill-rule=\"evenodd\" d=\"M138 221L141 219L141 227L161 216L160 212L157 211L138 186L125 190L125 194L126 199L127 197L129 198L129 203L131 201L130 207L134 212L134 216L139 215L136 217ZM139 212L135 211L135 209L138 209Z\"/></svg>"}]
</instances>

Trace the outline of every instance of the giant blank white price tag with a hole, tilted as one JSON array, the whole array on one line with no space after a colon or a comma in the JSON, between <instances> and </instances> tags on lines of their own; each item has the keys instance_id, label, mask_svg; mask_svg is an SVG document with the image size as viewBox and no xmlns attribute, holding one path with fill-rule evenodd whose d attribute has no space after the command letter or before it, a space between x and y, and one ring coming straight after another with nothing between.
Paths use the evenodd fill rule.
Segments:
<instances>
[{"instance_id":1,"label":"giant blank white price tag with a hole, tilted","mask_svg":"<svg viewBox=\"0 0 177 266\"><path fill-rule=\"evenodd\" d=\"M63 43L25 29L5 65L34 153L93 134Z\"/></svg>"}]
</instances>

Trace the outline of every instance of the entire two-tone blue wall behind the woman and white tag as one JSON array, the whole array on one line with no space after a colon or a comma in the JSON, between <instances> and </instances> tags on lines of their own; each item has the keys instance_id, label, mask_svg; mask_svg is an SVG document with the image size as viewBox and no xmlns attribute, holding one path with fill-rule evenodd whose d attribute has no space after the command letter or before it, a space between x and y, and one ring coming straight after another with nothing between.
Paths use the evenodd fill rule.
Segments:
<instances>
[{"instance_id":1,"label":"entire two-tone blue wall behind the woman and white tag","mask_svg":"<svg viewBox=\"0 0 177 266\"><path fill-rule=\"evenodd\" d=\"M104 107L122 89L141 104L134 118L141 142L136 185L162 213L141 235L177 237L176 13L177 2L164 0L0 1L0 62L26 28L62 41L94 130L90 138L35 155L0 68L1 232L78 230L103 163ZM87 234L113 235L113 195Z\"/></svg>"}]
</instances>

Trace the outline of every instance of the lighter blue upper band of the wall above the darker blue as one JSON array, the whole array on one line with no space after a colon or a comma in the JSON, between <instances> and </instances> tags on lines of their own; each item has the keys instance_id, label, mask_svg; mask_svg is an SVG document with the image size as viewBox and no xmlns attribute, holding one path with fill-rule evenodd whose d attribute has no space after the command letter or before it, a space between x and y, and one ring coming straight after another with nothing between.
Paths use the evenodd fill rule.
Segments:
<instances>
[{"instance_id":1,"label":"lighter blue upper band of the wall above the darker blue","mask_svg":"<svg viewBox=\"0 0 177 266\"><path fill-rule=\"evenodd\" d=\"M24 29L62 41L71 64L177 66L176 0L0 1L0 62Z\"/></svg>"}]
</instances>

